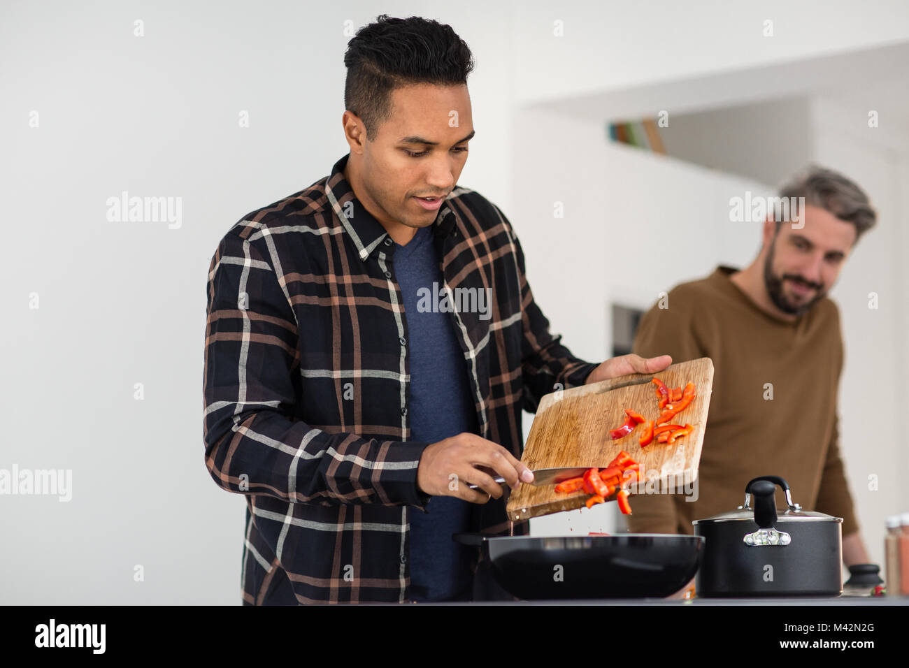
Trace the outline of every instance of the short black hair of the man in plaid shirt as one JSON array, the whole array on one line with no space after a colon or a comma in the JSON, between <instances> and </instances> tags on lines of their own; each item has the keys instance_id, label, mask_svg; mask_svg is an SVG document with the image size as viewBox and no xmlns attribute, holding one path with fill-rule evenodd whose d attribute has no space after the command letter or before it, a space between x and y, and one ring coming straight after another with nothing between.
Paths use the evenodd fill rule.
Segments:
<instances>
[{"instance_id":1,"label":"short black hair of the man in plaid shirt","mask_svg":"<svg viewBox=\"0 0 909 668\"><path fill-rule=\"evenodd\" d=\"M391 94L408 84L467 83L474 69L470 48L450 25L411 16L380 15L347 43L344 104L375 139L391 113Z\"/></svg>"}]
</instances>

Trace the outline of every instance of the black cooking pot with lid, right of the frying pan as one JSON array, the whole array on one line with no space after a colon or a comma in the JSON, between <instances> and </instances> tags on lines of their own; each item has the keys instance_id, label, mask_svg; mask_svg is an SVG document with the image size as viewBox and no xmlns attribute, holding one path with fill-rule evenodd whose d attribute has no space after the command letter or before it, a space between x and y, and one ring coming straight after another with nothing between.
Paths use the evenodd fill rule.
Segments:
<instances>
[{"instance_id":1,"label":"black cooking pot with lid, right of the frying pan","mask_svg":"<svg viewBox=\"0 0 909 668\"><path fill-rule=\"evenodd\" d=\"M789 506L776 510L775 485ZM838 596L843 593L842 517L804 511L789 484L762 475L731 513L694 521L706 539L698 596ZM754 496L754 508L751 498Z\"/></svg>"}]
</instances>

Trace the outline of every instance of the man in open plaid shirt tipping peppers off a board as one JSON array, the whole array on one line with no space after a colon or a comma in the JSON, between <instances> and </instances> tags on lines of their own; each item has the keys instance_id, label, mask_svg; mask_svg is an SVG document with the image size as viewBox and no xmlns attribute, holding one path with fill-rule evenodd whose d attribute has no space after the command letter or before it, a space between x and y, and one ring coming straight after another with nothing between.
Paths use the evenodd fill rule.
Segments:
<instances>
[{"instance_id":1,"label":"man in open plaid shirt tipping peppers off a board","mask_svg":"<svg viewBox=\"0 0 909 668\"><path fill-rule=\"evenodd\" d=\"M522 410L670 359L591 364L549 333L511 224L457 185L473 59L451 27L380 16L345 65L350 153L212 259L205 464L246 498L243 603L468 601L478 553L451 534L507 526Z\"/></svg>"}]
</instances>

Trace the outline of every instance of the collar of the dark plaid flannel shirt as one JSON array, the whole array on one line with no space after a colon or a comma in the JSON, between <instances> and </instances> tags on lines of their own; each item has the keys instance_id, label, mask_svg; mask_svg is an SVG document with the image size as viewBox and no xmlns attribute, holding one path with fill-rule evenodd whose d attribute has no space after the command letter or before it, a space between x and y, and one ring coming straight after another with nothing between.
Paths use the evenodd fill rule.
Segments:
<instances>
[{"instance_id":1,"label":"collar of the dark plaid flannel shirt","mask_svg":"<svg viewBox=\"0 0 909 668\"><path fill-rule=\"evenodd\" d=\"M363 204L360 204L354 194L354 189L345 179L344 168L349 157L348 153L332 167L332 173L325 183L325 195L332 205L335 216L354 242L360 259L365 260L385 241L388 233L385 231L385 227L375 219L375 216L370 214ZM446 201L439 207L439 213L435 217L433 223L435 234L452 234L454 224L454 211Z\"/></svg>"}]
</instances>

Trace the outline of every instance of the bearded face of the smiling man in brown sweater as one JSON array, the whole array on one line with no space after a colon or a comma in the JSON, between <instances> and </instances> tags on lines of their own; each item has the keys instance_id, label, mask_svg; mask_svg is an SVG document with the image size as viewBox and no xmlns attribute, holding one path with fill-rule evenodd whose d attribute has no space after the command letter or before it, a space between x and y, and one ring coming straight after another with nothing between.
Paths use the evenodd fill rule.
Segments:
<instances>
[{"instance_id":1,"label":"bearded face of the smiling man in brown sweater","mask_svg":"<svg viewBox=\"0 0 909 668\"><path fill-rule=\"evenodd\" d=\"M803 219L800 230L780 224L764 261L767 293L777 308L794 315L824 298L855 242L854 224L825 209L807 205Z\"/></svg>"}]
</instances>

